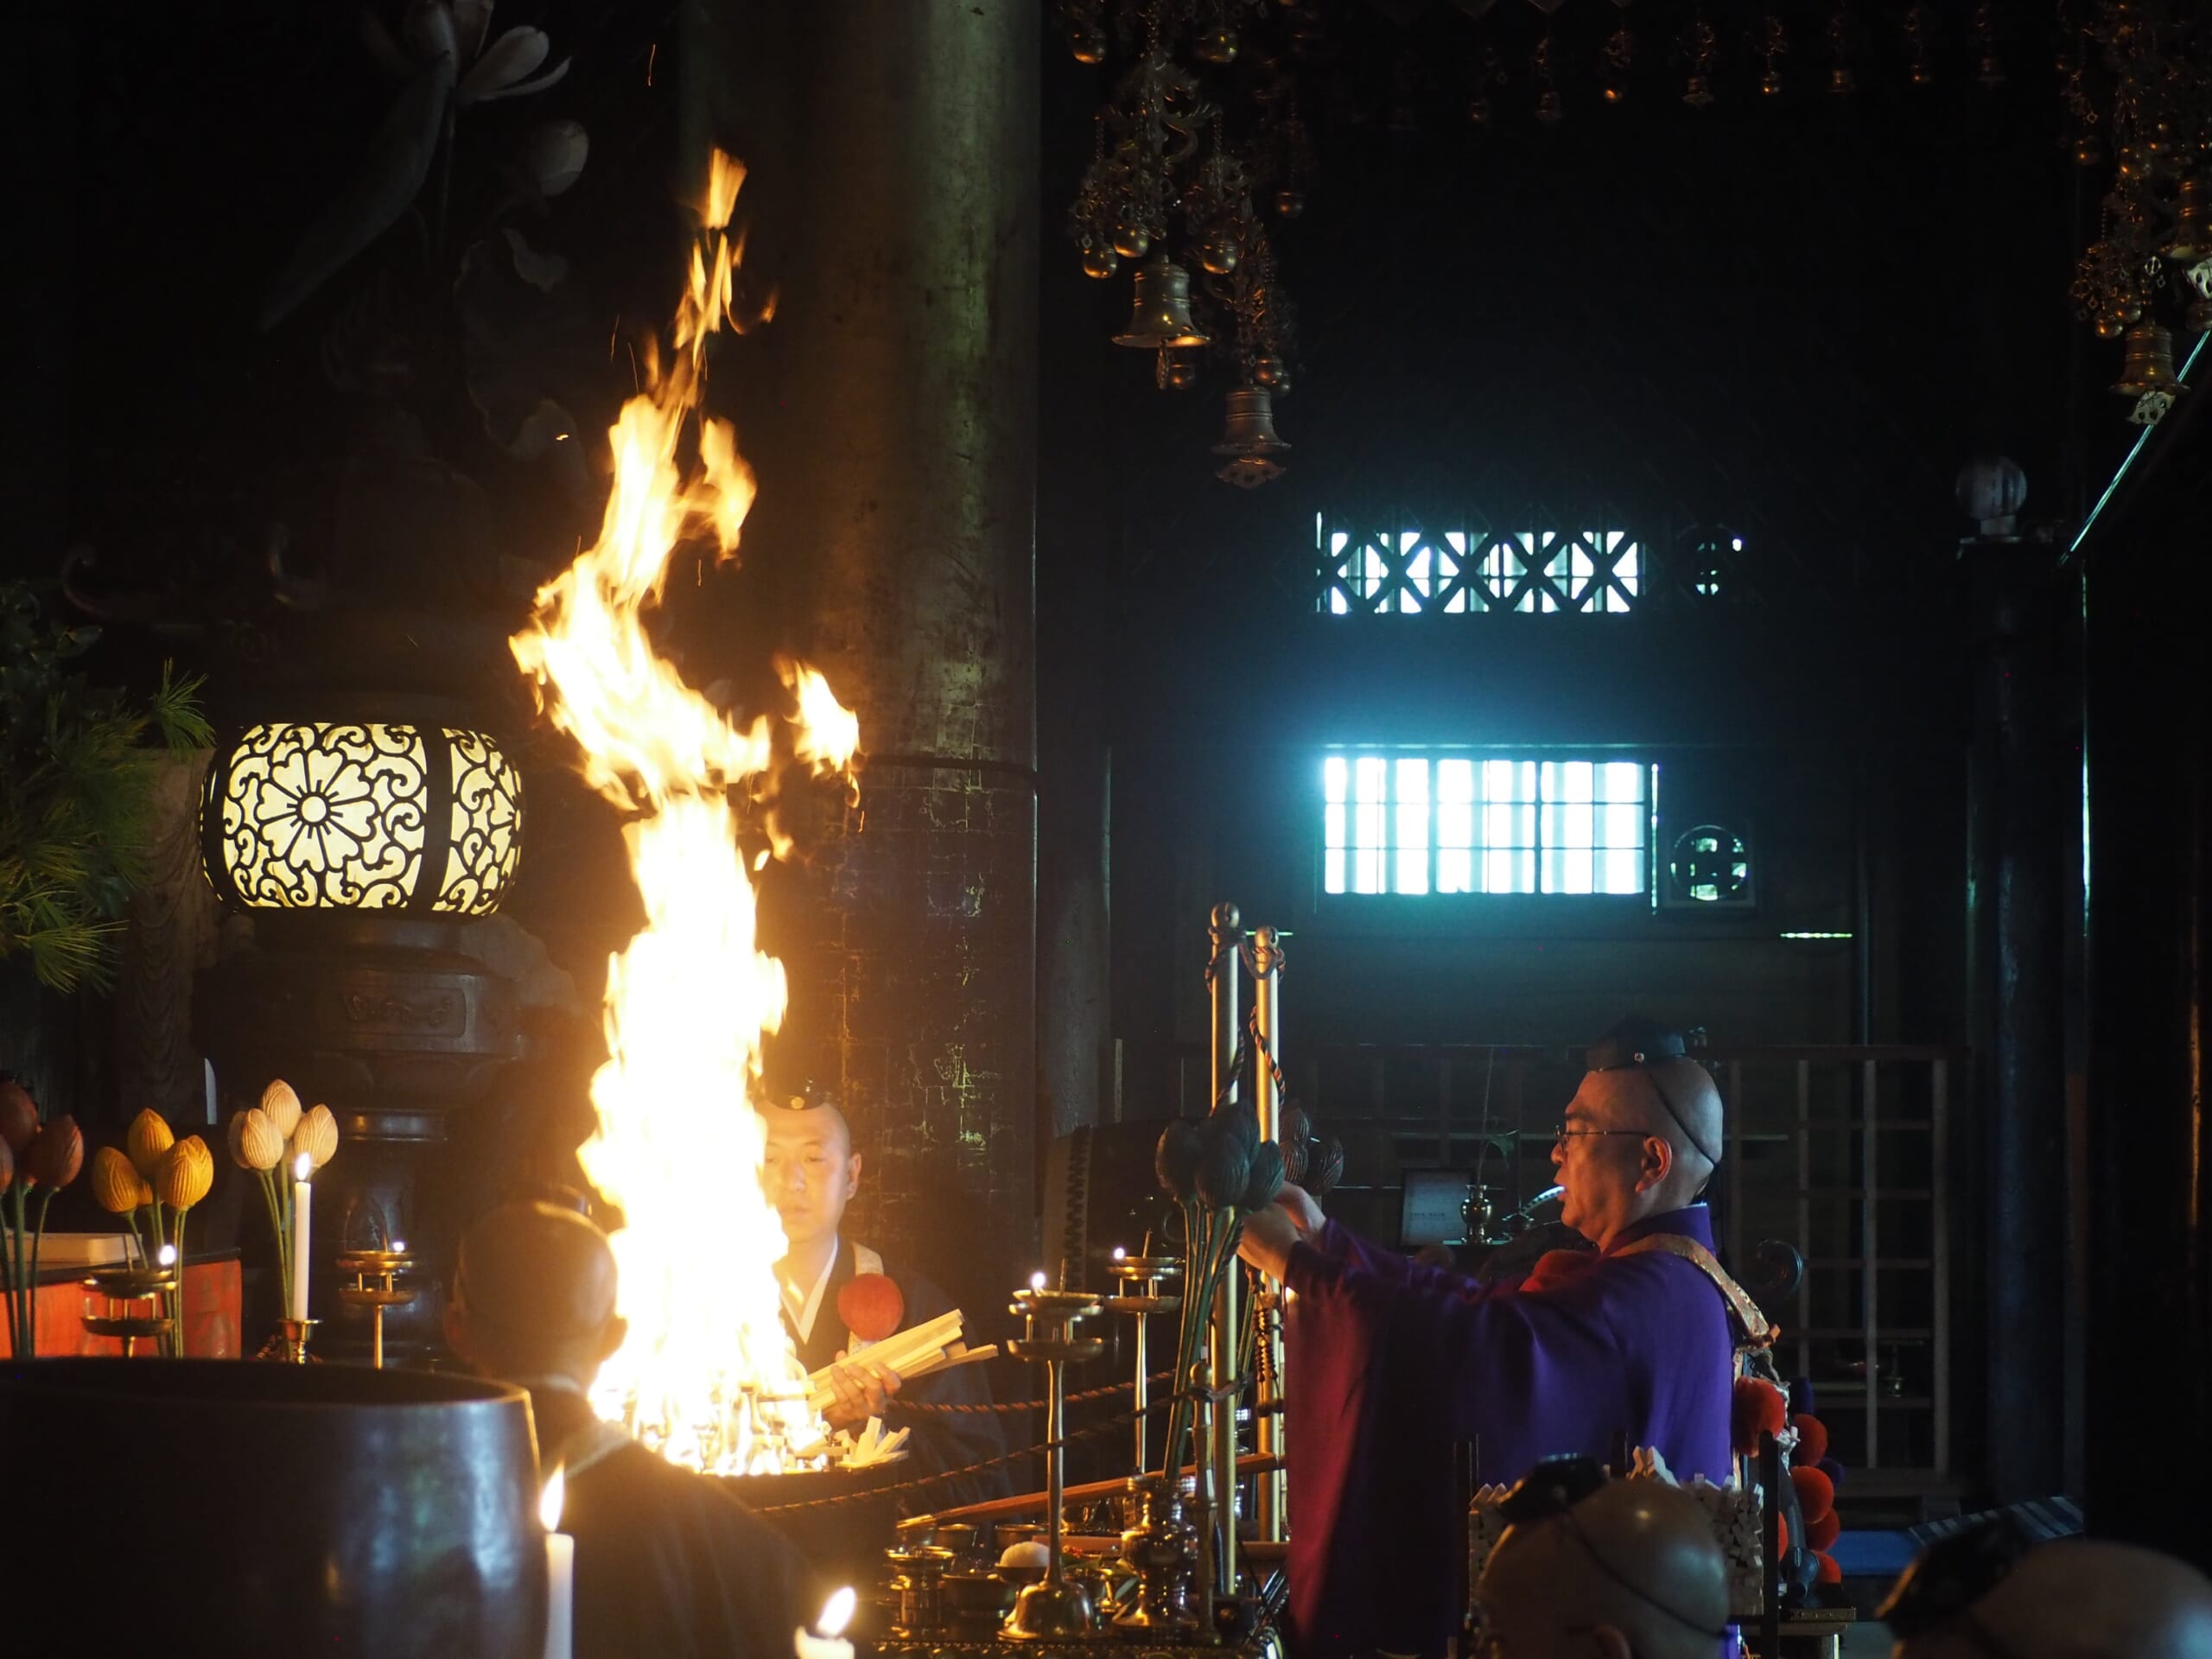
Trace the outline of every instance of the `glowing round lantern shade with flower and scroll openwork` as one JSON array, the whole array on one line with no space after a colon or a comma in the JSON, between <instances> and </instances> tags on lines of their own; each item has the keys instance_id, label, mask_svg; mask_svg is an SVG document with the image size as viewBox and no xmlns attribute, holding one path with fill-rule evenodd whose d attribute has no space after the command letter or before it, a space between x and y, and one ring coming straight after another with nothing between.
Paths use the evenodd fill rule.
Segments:
<instances>
[{"instance_id":1,"label":"glowing round lantern shade with flower and scroll openwork","mask_svg":"<svg viewBox=\"0 0 2212 1659\"><path fill-rule=\"evenodd\" d=\"M522 854L522 779L484 732L270 721L208 770L201 847L248 909L489 916Z\"/></svg>"}]
</instances>

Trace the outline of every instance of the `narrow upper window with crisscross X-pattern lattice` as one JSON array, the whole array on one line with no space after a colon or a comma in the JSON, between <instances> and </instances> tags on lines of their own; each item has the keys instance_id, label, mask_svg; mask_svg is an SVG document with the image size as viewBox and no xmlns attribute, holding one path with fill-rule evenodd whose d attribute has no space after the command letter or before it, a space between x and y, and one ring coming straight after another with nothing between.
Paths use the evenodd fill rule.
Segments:
<instances>
[{"instance_id":1,"label":"narrow upper window with crisscross X-pattern lattice","mask_svg":"<svg viewBox=\"0 0 2212 1659\"><path fill-rule=\"evenodd\" d=\"M1624 529L1354 531L1314 520L1323 615L1632 611L1644 546Z\"/></svg>"}]
</instances>

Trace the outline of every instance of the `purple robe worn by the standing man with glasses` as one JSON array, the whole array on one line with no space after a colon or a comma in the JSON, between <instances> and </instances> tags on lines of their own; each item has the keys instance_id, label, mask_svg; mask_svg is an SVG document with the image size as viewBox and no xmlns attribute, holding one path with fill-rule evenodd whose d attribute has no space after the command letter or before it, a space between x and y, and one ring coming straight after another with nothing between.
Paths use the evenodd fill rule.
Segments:
<instances>
[{"instance_id":1,"label":"purple robe worn by the standing man with glasses","mask_svg":"<svg viewBox=\"0 0 2212 1659\"><path fill-rule=\"evenodd\" d=\"M1520 1480L1562 1451L1606 1458L1617 1433L1655 1447L1681 1480L1728 1480L1739 1332L1694 1263L1619 1254L1655 1232L1712 1248L1703 1203L1639 1221L1542 1285L1416 1267L1334 1221L1292 1248L1283 1396L1298 1659L1444 1652L1460 1619L1458 1440L1475 1442L1478 1482Z\"/></svg>"}]
</instances>

